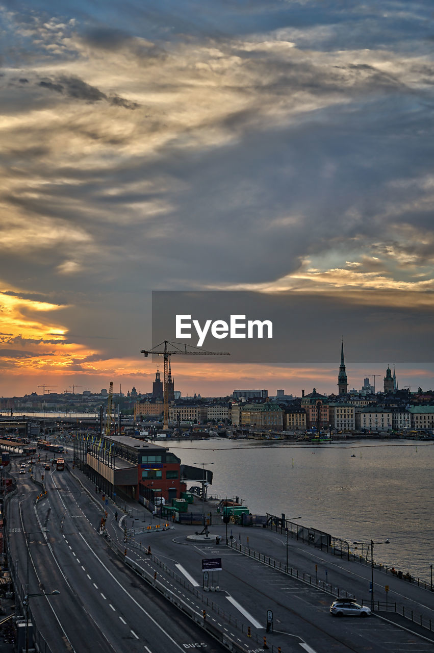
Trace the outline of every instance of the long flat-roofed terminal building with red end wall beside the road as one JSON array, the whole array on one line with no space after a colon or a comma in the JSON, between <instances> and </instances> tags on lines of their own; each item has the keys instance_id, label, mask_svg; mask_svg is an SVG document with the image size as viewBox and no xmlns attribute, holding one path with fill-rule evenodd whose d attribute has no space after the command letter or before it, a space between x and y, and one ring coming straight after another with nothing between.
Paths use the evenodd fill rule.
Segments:
<instances>
[{"instance_id":1,"label":"long flat-roofed terminal building with red end wall beside the road","mask_svg":"<svg viewBox=\"0 0 434 653\"><path fill-rule=\"evenodd\" d=\"M166 502L185 492L181 460L166 447L125 436L74 439L74 464L110 498L133 498Z\"/></svg>"}]
</instances>

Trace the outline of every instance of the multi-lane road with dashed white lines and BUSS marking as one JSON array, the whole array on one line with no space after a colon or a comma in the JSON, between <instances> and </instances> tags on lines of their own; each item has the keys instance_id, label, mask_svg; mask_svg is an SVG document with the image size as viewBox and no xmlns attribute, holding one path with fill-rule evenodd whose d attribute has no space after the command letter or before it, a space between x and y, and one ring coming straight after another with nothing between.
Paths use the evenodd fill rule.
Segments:
<instances>
[{"instance_id":1,"label":"multi-lane road with dashed white lines and BUSS marking","mask_svg":"<svg viewBox=\"0 0 434 653\"><path fill-rule=\"evenodd\" d=\"M112 554L98 534L101 509L69 473L46 472L45 480L48 494L35 507L35 486L29 477L20 477L8 531L23 586L25 532L31 534L30 594L60 592L30 599L53 653L166 653L191 644L213 653L225 650Z\"/></svg>"}]
</instances>

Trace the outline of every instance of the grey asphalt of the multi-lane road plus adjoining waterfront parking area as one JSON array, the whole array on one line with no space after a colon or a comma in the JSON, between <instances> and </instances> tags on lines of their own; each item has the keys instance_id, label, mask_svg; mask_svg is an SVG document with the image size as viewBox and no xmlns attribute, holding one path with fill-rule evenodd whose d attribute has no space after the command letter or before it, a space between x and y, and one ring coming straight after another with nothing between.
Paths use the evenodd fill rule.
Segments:
<instances>
[{"instance_id":1,"label":"grey asphalt of the multi-lane road plus adjoining waterfront parking area","mask_svg":"<svg viewBox=\"0 0 434 653\"><path fill-rule=\"evenodd\" d=\"M125 543L124 527L131 528L132 518L122 515L111 502L102 503L101 494L95 493L88 479L75 473L80 483L67 470L46 472L48 494L36 508L35 485L20 475L20 489L9 511L10 546L23 584L27 560L23 532L35 532L30 536L30 592L61 592L60 596L31 599L37 624L53 653L225 650L130 567L151 578L155 573L155 586L178 597L196 616L205 609L208 622L246 652L263 650L265 636L268 646L274 646L274 651L280 646L282 653L434 653L433 643L377 616L333 618L329 613L330 592L226 547L223 524L212 528L223 538L219 545L213 539L189 541L187 535L194 534L197 527L178 524L163 532L136 535L134 541ZM104 511L112 545L126 550L125 559L99 535ZM148 516L145 525L155 522ZM140 520L135 520L135 526L140 526ZM49 532L42 534L44 528ZM234 527L232 531L234 541L266 552L285 567L285 535L255 528ZM147 554L148 547L151 555ZM209 584L218 586L219 591L202 588L204 558L222 560L218 577L217 572L214 576L209 573ZM319 580L332 584L332 592L339 587L341 592L346 590L369 603L370 567L333 558L295 540L288 541L288 565L314 579L318 573ZM418 613L432 616L433 593L404 586L403 581L376 572L376 599L380 592L384 594L385 582L390 585L390 601L405 599ZM270 611L273 627L266 632ZM408 628L411 630L411 623Z\"/></svg>"}]
</instances>

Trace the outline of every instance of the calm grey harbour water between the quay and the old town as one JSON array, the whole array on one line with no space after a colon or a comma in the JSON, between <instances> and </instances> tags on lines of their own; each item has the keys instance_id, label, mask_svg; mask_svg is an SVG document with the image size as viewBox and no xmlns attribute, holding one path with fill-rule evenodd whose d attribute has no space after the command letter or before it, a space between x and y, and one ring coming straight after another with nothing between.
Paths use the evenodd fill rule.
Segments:
<instances>
[{"instance_id":1,"label":"calm grey harbour water between the quay and the old town","mask_svg":"<svg viewBox=\"0 0 434 653\"><path fill-rule=\"evenodd\" d=\"M183 464L206 463L213 472L209 494L239 496L253 514L300 515L294 521L350 543L373 539L377 562L430 580L434 443L213 438L168 448ZM390 544L380 545L387 538Z\"/></svg>"}]
</instances>

